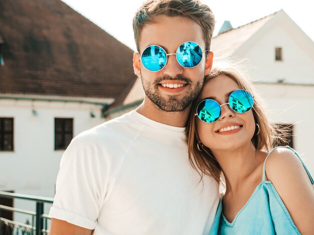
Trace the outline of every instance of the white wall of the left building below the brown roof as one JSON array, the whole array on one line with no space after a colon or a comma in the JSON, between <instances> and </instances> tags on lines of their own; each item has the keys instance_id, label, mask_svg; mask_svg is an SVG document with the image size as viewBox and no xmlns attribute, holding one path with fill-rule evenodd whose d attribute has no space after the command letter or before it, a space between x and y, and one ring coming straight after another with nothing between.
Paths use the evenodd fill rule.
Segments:
<instances>
[{"instance_id":1,"label":"white wall of the left building below the brown roof","mask_svg":"<svg viewBox=\"0 0 314 235\"><path fill-rule=\"evenodd\" d=\"M33 115L33 109L37 115ZM73 136L105 121L101 118L100 105L5 99L0 99L0 117L14 118L14 151L0 151L0 190L47 197L54 197L64 152L54 150L55 117L73 118ZM14 203L17 208L33 211L36 208L34 202L15 200ZM19 213L15 219L26 221Z\"/></svg>"}]
</instances>

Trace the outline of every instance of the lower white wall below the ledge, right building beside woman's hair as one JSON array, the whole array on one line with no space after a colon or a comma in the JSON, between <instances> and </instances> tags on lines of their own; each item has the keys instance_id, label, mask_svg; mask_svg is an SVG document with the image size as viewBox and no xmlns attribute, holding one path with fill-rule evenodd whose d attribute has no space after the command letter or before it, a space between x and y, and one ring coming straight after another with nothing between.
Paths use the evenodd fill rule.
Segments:
<instances>
[{"instance_id":1,"label":"lower white wall below the ledge, right building beside woman's hair","mask_svg":"<svg viewBox=\"0 0 314 235\"><path fill-rule=\"evenodd\" d=\"M314 85L255 84L273 123L293 124L293 144L314 175Z\"/></svg>"}]
</instances>

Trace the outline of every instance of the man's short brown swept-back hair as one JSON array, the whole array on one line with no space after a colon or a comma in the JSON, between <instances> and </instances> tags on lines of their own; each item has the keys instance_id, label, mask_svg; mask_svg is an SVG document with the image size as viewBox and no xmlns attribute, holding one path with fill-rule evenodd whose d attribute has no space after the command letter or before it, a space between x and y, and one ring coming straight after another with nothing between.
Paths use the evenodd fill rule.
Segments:
<instances>
[{"instance_id":1,"label":"man's short brown swept-back hair","mask_svg":"<svg viewBox=\"0 0 314 235\"><path fill-rule=\"evenodd\" d=\"M151 23L158 15L184 16L197 22L204 34L205 49L210 50L211 38L215 27L212 10L199 0L148 0L135 13L133 18L134 39L139 51L139 39L143 26Z\"/></svg>"}]
</instances>

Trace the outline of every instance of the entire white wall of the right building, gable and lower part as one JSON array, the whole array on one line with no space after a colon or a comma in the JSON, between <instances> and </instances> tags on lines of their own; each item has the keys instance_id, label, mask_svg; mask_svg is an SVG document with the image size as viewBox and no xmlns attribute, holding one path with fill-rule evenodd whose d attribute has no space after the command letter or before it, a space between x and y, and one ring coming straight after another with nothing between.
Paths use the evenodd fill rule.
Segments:
<instances>
[{"instance_id":1,"label":"entire white wall of the right building, gable and lower part","mask_svg":"<svg viewBox=\"0 0 314 235\"><path fill-rule=\"evenodd\" d=\"M275 47L282 61L275 61ZM255 33L233 53L246 58L248 74L265 99L274 123L294 124L294 148L314 175L314 44L288 17L278 17ZM290 83L295 85L288 85Z\"/></svg>"}]
</instances>

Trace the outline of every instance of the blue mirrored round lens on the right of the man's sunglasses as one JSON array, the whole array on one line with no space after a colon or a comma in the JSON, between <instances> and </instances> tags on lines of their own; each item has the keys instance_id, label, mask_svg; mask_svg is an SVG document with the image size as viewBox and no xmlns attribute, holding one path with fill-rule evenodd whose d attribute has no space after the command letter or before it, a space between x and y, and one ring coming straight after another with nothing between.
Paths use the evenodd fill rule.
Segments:
<instances>
[{"instance_id":1,"label":"blue mirrored round lens on the right of the man's sunglasses","mask_svg":"<svg viewBox=\"0 0 314 235\"><path fill-rule=\"evenodd\" d=\"M202 60L201 47L192 41L182 43L177 49L177 60L184 67L195 67Z\"/></svg>"}]
</instances>

